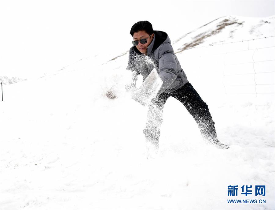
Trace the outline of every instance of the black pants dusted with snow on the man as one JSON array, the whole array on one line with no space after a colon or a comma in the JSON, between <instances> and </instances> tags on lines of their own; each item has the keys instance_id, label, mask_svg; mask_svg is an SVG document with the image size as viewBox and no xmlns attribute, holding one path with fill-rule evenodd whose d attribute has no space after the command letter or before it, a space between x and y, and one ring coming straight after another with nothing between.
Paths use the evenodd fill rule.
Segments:
<instances>
[{"instance_id":1,"label":"black pants dusted with snow on the man","mask_svg":"<svg viewBox=\"0 0 275 210\"><path fill-rule=\"evenodd\" d=\"M200 133L205 141L217 141L215 122L212 120L208 106L189 82L172 93L162 93L151 100L147 113L146 127L143 130L147 141L158 147L160 126L163 122L163 107L170 96L183 103L198 124Z\"/></svg>"}]
</instances>

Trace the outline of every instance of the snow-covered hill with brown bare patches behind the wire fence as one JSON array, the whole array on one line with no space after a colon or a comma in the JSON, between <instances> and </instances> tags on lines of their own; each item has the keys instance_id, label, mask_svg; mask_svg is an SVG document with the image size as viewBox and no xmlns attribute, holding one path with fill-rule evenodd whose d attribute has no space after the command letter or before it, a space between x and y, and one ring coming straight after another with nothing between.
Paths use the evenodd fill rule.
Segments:
<instances>
[{"instance_id":1,"label":"snow-covered hill with brown bare patches behind the wire fence","mask_svg":"<svg viewBox=\"0 0 275 210\"><path fill-rule=\"evenodd\" d=\"M274 35L274 16L259 17L220 17L197 28L173 42L176 53L192 47L230 43L245 39L262 38Z\"/></svg>"}]
</instances>

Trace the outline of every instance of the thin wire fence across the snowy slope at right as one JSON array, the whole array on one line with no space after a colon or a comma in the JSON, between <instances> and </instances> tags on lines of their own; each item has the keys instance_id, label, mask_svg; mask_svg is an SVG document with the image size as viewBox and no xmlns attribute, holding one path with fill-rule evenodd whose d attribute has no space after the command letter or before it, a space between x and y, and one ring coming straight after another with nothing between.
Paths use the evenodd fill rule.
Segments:
<instances>
[{"instance_id":1,"label":"thin wire fence across the snowy slope at right","mask_svg":"<svg viewBox=\"0 0 275 210\"><path fill-rule=\"evenodd\" d=\"M190 47L185 50L205 48L204 56L206 57L222 55L222 84L225 94L256 94L257 97L258 94L275 93L274 37L275 36L265 36L236 42L210 44ZM257 43L255 43L255 40L257 40ZM240 45L238 43L243 44ZM236 44L236 46L233 44ZM220 47L218 49L220 52L210 54L207 47L214 46ZM194 53L196 53L196 55L199 53L203 54L204 50L200 50L199 53L195 51ZM255 59L255 57L257 58Z\"/></svg>"}]
</instances>

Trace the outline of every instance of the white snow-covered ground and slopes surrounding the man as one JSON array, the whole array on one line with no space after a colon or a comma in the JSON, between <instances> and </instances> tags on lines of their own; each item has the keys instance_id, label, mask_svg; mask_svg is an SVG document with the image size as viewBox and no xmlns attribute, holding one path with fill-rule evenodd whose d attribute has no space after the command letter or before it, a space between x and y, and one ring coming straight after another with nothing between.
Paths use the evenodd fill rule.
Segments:
<instances>
[{"instance_id":1,"label":"white snow-covered ground and slopes surrounding the man","mask_svg":"<svg viewBox=\"0 0 275 210\"><path fill-rule=\"evenodd\" d=\"M124 88L131 77L128 55L109 62L105 55L83 58L51 75L3 86L1 209L274 209L274 37L257 39L274 36L274 17L223 17L211 27L225 18L245 22L176 55L228 150L206 145L192 116L171 97L163 110L159 153L146 159L147 111ZM262 20L270 24L259 25ZM200 33L174 42L175 52ZM257 40L249 48L248 42L199 48L244 39ZM255 50L262 47L273 54ZM273 80L270 73L259 79L261 71L273 72ZM238 73L252 77L240 80ZM239 80L239 88L230 89ZM270 82L272 91L268 85L257 89ZM106 96L109 90L114 99ZM229 185L238 185L238 196L228 196ZM252 195L241 194L243 185L252 186ZM266 196L255 196L255 185L265 185Z\"/></svg>"}]
</instances>

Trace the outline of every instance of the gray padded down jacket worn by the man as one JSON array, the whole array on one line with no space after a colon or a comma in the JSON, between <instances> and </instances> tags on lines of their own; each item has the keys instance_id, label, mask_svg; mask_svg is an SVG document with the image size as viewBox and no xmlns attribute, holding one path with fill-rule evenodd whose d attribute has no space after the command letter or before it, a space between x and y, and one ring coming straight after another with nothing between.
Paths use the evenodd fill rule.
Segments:
<instances>
[{"instance_id":1,"label":"gray padded down jacket worn by the man","mask_svg":"<svg viewBox=\"0 0 275 210\"><path fill-rule=\"evenodd\" d=\"M139 74L143 76L144 81L155 67L163 81L158 93L174 92L187 83L187 77L174 53L167 33L162 31L153 31L153 33L155 36L147 48L147 55L139 52L135 46L130 48L127 70L133 72L132 78L135 85Z\"/></svg>"}]
</instances>

